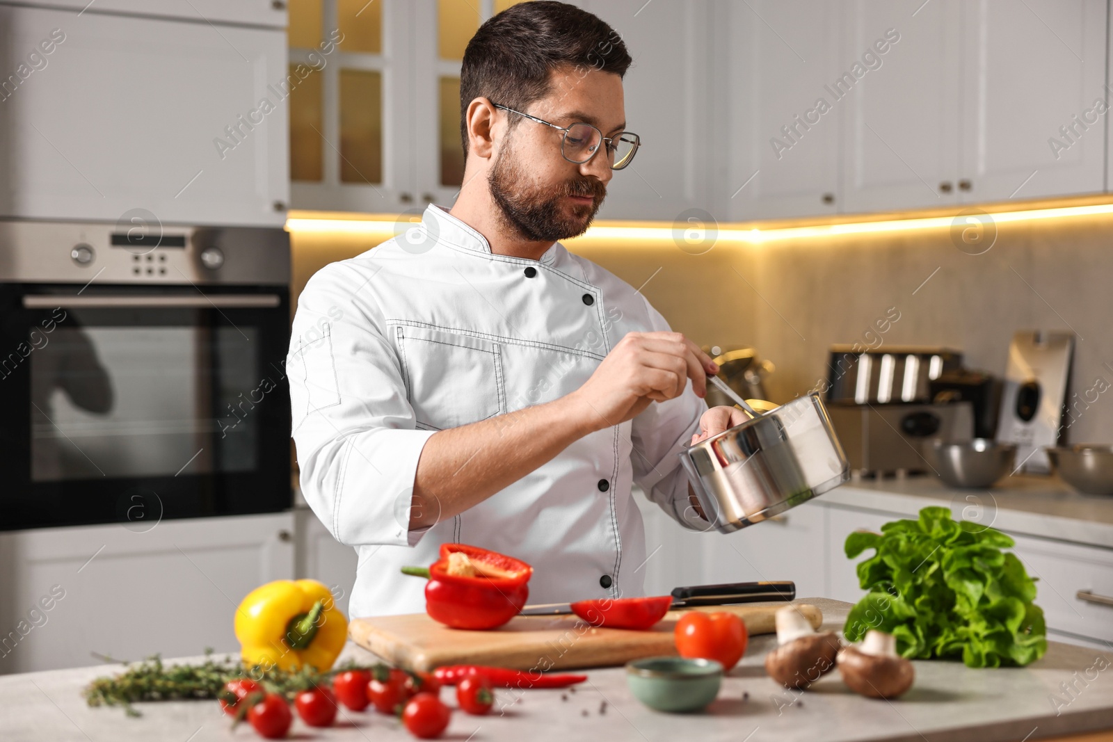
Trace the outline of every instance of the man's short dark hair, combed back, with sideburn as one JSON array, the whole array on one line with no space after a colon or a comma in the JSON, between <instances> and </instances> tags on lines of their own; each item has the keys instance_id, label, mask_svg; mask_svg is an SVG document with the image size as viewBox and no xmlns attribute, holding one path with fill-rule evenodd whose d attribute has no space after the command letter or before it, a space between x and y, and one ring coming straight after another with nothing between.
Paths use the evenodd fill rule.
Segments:
<instances>
[{"instance_id":1,"label":"man's short dark hair, combed back, with sideburn","mask_svg":"<svg viewBox=\"0 0 1113 742\"><path fill-rule=\"evenodd\" d=\"M567 2L533 0L487 20L467 42L460 72L460 136L467 155L467 106L476 98L524 110L550 92L560 67L622 77L633 60L622 37L598 16ZM511 118L511 126L519 117Z\"/></svg>"}]
</instances>

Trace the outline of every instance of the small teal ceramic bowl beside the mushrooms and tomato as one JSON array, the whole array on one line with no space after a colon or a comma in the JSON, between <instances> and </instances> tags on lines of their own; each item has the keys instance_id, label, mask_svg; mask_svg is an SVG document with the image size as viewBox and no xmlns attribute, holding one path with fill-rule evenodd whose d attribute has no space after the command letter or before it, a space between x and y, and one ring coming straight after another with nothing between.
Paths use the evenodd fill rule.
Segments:
<instances>
[{"instance_id":1,"label":"small teal ceramic bowl beside the mushrooms and tomato","mask_svg":"<svg viewBox=\"0 0 1113 742\"><path fill-rule=\"evenodd\" d=\"M650 709L699 711L715 701L722 665L715 660L646 657L627 664L627 685Z\"/></svg>"}]
</instances>

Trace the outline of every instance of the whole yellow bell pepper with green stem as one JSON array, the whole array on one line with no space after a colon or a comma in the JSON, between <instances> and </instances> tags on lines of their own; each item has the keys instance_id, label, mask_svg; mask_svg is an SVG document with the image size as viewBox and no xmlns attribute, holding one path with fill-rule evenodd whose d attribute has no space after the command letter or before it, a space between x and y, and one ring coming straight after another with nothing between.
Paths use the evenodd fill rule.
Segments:
<instances>
[{"instance_id":1,"label":"whole yellow bell pepper with green stem","mask_svg":"<svg viewBox=\"0 0 1113 742\"><path fill-rule=\"evenodd\" d=\"M246 665L325 672L347 641L347 619L316 580L276 580L239 604L236 639Z\"/></svg>"}]
</instances>

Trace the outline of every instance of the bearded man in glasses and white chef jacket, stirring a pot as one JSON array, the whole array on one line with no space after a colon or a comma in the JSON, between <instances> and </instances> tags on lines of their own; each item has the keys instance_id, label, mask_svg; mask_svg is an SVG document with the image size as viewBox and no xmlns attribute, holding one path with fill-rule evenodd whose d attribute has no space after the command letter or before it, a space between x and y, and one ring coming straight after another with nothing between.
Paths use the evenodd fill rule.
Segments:
<instances>
[{"instance_id":1,"label":"bearded man in glasses and white chef jacket, stirring a pot","mask_svg":"<svg viewBox=\"0 0 1113 742\"><path fill-rule=\"evenodd\" d=\"M531 563L531 602L639 595L633 483L708 528L677 454L745 416L708 409L711 359L556 243L583 234L637 151L630 62L572 6L489 20L463 60L455 205L302 293L288 358L302 491L358 552L353 615L422 612L424 584L400 567L450 542Z\"/></svg>"}]
</instances>

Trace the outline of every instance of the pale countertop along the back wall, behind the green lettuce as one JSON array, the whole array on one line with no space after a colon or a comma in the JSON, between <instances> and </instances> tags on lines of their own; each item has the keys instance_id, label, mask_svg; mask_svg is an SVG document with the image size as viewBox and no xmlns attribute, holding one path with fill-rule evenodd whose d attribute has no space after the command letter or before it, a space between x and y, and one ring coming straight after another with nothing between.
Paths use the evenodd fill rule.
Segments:
<instances>
[{"instance_id":1,"label":"pale countertop along the back wall, behind the green lettuce","mask_svg":"<svg viewBox=\"0 0 1113 742\"><path fill-rule=\"evenodd\" d=\"M1012 476L988 489L955 489L934 476L851 479L819 501L907 515L946 505L1005 532L1113 548L1113 497L1081 494L1057 477Z\"/></svg>"}]
</instances>

